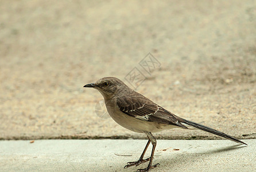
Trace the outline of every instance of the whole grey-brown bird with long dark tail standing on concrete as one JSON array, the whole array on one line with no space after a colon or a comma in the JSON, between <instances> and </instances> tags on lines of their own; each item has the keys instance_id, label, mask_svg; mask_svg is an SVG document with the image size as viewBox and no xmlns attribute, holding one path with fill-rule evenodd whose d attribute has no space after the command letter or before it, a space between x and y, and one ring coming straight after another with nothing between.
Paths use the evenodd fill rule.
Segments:
<instances>
[{"instance_id":1,"label":"whole grey-brown bird with long dark tail standing on concrete","mask_svg":"<svg viewBox=\"0 0 256 172\"><path fill-rule=\"evenodd\" d=\"M148 136L149 140L141 157L138 161L128 162L125 168L138 166L143 162L149 161L148 167L137 170L149 171L159 165L159 163L152 165L154 150L157 144L152 132L159 132L171 128L199 128L200 130L211 132L212 134L222 136L236 143L246 144L223 132L172 114L172 112L165 110L140 93L133 91L133 89L129 88L125 83L115 77L104 77L96 81L96 83L87 84L84 85L84 87L95 88L102 94L108 114L110 114L115 122L131 131L145 133ZM151 156L147 159L143 159L150 142L153 145Z\"/></svg>"}]
</instances>

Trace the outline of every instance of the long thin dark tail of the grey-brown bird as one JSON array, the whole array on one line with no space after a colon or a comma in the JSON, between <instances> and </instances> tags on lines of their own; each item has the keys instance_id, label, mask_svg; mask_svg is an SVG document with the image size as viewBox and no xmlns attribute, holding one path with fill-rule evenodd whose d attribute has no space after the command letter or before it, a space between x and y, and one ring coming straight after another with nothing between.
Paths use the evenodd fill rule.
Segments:
<instances>
[{"instance_id":1,"label":"long thin dark tail of the grey-brown bird","mask_svg":"<svg viewBox=\"0 0 256 172\"><path fill-rule=\"evenodd\" d=\"M242 142L241 140L238 140L238 139L236 139L236 138L233 138L233 137L230 136L230 135L224 134L223 132L220 132L220 131L218 131L218 130L214 130L213 128L204 126L204 125L199 124L199 123L192 122L192 121L187 120L187 119L179 118L179 122L180 122L180 123L188 124L189 126L198 128L198 129L203 130L203 131L211 132L212 134L216 134L216 135L222 136L223 138L232 140L232 141L234 141L234 142L236 142L236 143L246 144L245 142ZM247 144L246 144L246 145L247 145Z\"/></svg>"}]
</instances>

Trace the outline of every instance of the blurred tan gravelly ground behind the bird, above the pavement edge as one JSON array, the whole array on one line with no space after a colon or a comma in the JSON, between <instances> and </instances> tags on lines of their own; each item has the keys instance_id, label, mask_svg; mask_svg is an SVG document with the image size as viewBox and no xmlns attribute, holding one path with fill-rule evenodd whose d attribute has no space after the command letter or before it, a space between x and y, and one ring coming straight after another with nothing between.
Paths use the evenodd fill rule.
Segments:
<instances>
[{"instance_id":1,"label":"blurred tan gravelly ground behind the bird, above the pavement edge","mask_svg":"<svg viewBox=\"0 0 256 172\"><path fill-rule=\"evenodd\" d=\"M256 1L0 1L0 139L143 138L95 114L101 77L182 118L256 138ZM161 63L146 73L148 54ZM174 129L163 139L215 139Z\"/></svg>"}]
</instances>

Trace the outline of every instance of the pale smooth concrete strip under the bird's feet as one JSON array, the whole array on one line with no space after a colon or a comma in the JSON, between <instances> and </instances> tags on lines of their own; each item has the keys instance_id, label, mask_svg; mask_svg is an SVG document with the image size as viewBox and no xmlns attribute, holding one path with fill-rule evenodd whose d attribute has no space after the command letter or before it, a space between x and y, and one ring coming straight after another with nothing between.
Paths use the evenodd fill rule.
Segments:
<instances>
[{"instance_id":1,"label":"pale smooth concrete strip under the bird's feet","mask_svg":"<svg viewBox=\"0 0 256 172\"><path fill-rule=\"evenodd\" d=\"M255 171L256 140L157 140L152 171ZM1 140L0 171L135 171L146 140ZM145 157L150 155L149 147ZM176 150L174 150L176 149ZM125 156L124 156L125 155Z\"/></svg>"}]
</instances>

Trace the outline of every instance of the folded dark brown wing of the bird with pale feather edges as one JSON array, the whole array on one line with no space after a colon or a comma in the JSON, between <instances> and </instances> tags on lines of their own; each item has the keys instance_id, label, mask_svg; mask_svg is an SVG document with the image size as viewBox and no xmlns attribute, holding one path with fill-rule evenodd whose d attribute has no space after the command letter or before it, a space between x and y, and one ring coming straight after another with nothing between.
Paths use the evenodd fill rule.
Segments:
<instances>
[{"instance_id":1,"label":"folded dark brown wing of the bird with pale feather edges","mask_svg":"<svg viewBox=\"0 0 256 172\"><path fill-rule=\"evenodd\" d=\"M117 105L120 111L134 118L149 122L172 124L187 129L172 112L165 110L146 97L118 97Z\"/></svg>"}]
</instances>

